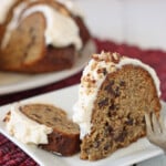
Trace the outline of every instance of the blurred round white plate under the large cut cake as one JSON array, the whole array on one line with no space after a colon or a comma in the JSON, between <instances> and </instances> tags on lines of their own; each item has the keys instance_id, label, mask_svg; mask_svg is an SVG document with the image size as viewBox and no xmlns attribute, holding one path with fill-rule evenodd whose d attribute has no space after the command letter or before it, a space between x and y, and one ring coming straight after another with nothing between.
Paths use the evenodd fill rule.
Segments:
<instances>
[{"instance_id":1,"label":"blurred round white plate under the large cut cake","mask_svg":"<svg viewBox=\"0 0 166 166\"><path fill-rule=\"evenodd\" d=\"M50 83L55 83L80 72L90 60L91 53L95 52L95 45L90 42L82 55L76 60L72 69L51 72L44 74L17 74L11 72L0 72L0 95L13 92L25 91L40 87Z\"/></svg>"}]
</instances>

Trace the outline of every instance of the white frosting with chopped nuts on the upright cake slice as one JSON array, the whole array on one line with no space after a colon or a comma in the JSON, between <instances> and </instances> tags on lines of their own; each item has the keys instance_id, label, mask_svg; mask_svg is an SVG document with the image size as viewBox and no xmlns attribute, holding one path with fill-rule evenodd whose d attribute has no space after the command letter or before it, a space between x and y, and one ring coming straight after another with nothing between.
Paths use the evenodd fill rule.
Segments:
<instances>
[{"instance_id":1,"label":"white frosting with chopped nuts on the upright cake slice","mask_svg":"<svg viewBox=\"0 0 166 166\"><path fill-rule=\"evenodd\" d=\"M148 73L154 79L158 96L160 95L159 80L156 75L156 72L147 64L142 63L139 60L125 56L122 58L118 63L114 63L111 60L104 61L107 56L104 52L102 52L102 54L100 55L96 54L95 56L100 60L96 61L95 59L92 59L89 62L89 65L86 65L83 71L79 89L79 100L73 107L73 121L80 125L81 138L91 133L91 115L93 111L93 104L96 98L97 92L106 77L103 72L98 73L98 69L106 69L107 73L112 73L126 64L142 66L143 69L148 71ZM113 56L114 59L116 59L116 53L113 53Z\"/></svg>"}]
</instances>

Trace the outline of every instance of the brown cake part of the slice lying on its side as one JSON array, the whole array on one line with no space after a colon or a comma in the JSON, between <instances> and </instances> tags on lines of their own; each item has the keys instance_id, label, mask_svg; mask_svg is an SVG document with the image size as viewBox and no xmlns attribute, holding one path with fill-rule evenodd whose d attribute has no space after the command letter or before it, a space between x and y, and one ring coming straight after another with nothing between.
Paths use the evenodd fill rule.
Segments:
<instances>
[{"instance_id":1,"label":"brown cake part of the slice lying on its side","mask_svg":"<svg viewBox=\"0 0 166 166\"><path fill-rule=\"evenodd\" d=\"M25 104L19 111L30 120L51 127L52 133L48 134L48 144L39 144L39 147L62 156L71 156L80 151L79 125L68 118L66 113L50 104ZM4 121L10 121L7 114Z\"/></svg>"}]
</instances>

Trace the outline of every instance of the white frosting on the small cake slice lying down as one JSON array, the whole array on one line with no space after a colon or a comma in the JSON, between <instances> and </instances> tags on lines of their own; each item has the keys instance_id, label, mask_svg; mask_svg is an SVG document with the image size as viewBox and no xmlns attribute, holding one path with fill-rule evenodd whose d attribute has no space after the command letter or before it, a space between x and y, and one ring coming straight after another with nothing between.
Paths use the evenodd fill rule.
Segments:
<instances>
[{"instance_id":1,"label":"white frosting on the small cake slice lying down","mask_svg":"<svg viewBox=\"0 0 166 166\"><path fill-rule=\"evenodd\" d=\"M28 118L19 111L20 104L11 106L10 121L7 122L7 131L24 144L48 144L48 134L52 128Z\"/></svg>"}]
</instances>

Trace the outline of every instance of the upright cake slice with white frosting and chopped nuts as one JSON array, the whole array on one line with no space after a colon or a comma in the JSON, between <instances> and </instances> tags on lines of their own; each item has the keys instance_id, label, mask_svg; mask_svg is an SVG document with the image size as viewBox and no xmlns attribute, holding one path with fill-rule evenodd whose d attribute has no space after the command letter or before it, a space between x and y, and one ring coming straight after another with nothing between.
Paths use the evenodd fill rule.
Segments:
<instances>
[{"instance_id":1,"label":"upright cake slice with white frosting and chopped nuts","mask_svg":"<svg viewBox=\"0 0 166 166\"><path fill-rule=\"evenodd\" d=\"M145 112L159 115L159 80L151 66L117 53L93 54L74 105L81 158L104 158L145 136Z\"/></svg>"}]
</instances>

